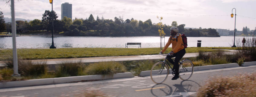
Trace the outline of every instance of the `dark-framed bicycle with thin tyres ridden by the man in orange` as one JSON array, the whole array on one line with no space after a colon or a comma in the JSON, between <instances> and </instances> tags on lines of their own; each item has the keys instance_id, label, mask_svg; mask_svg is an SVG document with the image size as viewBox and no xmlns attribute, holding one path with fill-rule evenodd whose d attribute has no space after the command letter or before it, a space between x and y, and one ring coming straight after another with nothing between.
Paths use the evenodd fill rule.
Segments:
<instances>
[{"instance_id":1,"label":"dark-framed bicycle with thin tyres ridden by the man in orange","mask_svg":"<svg viewBox=\"0 0 256 97\"><path fill-rule=\"evenodd\" d=\"M171 65L166 61L167 55L170 55L170 54L168 53L168 54L161 54L161 55L166 56L165 60L155 63L152 66L150 71L151 80L156 84L161 84L167 79L170 71L169 67L172 70L172 75L174 76L175 74L175 71L173 70ZM174 60L174 59L171 59L171 60ZM194 72L194 64L192 63L191 60L179 61L179 78L180 79L188 80L192 76L193 72ZM165 78L163 79L163 77Z\"/></svg>"}]
</instances>

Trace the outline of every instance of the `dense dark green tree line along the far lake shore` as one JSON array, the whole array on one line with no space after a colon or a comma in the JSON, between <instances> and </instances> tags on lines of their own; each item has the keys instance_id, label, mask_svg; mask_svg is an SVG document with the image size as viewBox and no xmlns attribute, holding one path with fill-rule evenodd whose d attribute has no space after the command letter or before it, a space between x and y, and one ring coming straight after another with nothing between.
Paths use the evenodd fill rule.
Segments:
<instances>
[{"instance_id":1,"label":"dense dark green tree line along the far lake shore","mask_svg":"<svg viewBox=\"0 0 256 97\"><path fill-rule=\"evenodd\" d=\"M1 17L3 17L1 15ZM114 17L114 19L105 19L103 16L100 18L91 14L89 18L71 18L64 17L62 20L57 20L58 15L55 11L45 10L42 14L42 20L34 19L30 22L16 21L17 33L25 33L27 31L51 31L52 18L54 21L54 33L64 31L67 36L159 36L160 32L164 32L165 36L170 36L170 28L178 27L179 33L185 33L188 37L201 37L211 35L211 37L218 37L215 29L185 29L185 24L180 24L173 21L171 26L162 24L161 21L152 24L151 19L146 21L136 20L134 18L124 19L123 17ZM161 18L161 17L160 17ZM3 23L6 25L6 31L10 31L11 24ZM2 26L1 26L2 27ZM164 35L163 33L161 35Z\"/></svg>"}]
</instances>

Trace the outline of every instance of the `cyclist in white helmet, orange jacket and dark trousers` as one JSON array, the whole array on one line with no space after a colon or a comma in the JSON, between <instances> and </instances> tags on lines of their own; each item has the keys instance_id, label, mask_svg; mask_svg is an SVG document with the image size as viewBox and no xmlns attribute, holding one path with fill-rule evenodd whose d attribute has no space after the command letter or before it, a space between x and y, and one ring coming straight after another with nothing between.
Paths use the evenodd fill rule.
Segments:
<instances>
[{"instance_id":1,"label":"cyclist in white helmet, orange jacket and dark trousers","mask_svg":"<svg viewBox=\"0 0 256 97\"><path fill-rule=\"evenodd\" d=\"M165 50L172 44L172 51L170 55L167 56L167 60L172 63L173 69L175 71L175 76L171 80L176 80L179 78L179 61L185 55L186 50L184 48L184 44L182 42L181 34L178 34L179 29L177 27L171 27L171 36L168 42L165 45L165 48L160 51L160 53L164 53ZM171 60L171 58L175 57L175 61Z\"/></svg>"}]
</instances>

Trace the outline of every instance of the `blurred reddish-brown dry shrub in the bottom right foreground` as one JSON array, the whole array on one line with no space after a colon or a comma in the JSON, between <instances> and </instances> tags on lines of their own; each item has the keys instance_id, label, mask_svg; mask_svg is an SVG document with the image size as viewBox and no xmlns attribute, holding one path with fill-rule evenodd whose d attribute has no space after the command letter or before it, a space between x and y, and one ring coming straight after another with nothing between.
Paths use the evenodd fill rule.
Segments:
<instances>
[{"instance_id":1,"label":"blurred reddish-brown dry shrub in the bottom right foreground","mask_svg":"<svg viewBox=\"0 0 256 97\"><path fill-rule=\"evenodd\" d=\"M211 77L199 88L198 97L255 97L256 72L234 77Z\"/></svg>"}]
</instances>

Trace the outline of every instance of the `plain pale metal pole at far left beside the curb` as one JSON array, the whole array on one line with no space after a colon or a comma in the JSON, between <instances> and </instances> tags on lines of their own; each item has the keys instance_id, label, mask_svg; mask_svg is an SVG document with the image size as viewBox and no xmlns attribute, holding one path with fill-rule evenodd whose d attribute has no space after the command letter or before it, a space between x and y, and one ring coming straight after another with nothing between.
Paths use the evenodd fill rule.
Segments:
<instances>
[{"instance_id":1,"label":"plain pale metal pole at far left beside the curb","mask_svg":"<svg viewBox=\"0 0 256 97\"><path fill-rule=\"evenodd\" d=\"M17 57L17 49L16 49L16 22L14 15L14 0L11 0L12 7L12 54L13 54L13 75L12 76L20 76L18 73L18 57Z\"/></svg>"}]
</instances>

